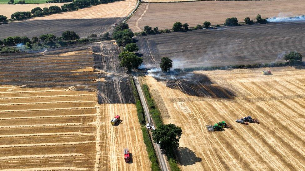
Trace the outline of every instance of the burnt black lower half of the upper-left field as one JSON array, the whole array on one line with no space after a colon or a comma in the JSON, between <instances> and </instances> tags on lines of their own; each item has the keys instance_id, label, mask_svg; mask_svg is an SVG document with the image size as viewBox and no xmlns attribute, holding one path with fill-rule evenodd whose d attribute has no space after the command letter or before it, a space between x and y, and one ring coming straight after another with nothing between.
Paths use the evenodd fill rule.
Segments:
<instances>
[{"instance_id":1,"label":"burnt black lower half of the upper-left field","mask_svg":"<svg viewBox=\"0 0 305 171\"><path fill-rule=\"evenodd\" d=\"M64 31L75 31L80 37L91 34L102 34L114 23L120 23L125 17L97 19L58 19L58 20L27 20L0 25L0 39L9 36L27 36L29 38L43 34L61 36Z\"/></svg>"}]
</instances>

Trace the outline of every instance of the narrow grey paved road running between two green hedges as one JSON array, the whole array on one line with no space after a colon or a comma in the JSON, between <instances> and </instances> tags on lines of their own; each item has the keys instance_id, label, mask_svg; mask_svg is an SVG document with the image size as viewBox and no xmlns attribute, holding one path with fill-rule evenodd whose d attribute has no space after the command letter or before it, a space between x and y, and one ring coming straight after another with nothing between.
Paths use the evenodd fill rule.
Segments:
<instances>
[{"instance_id":1,"label":"narrow grey paved road running between two green hedges","mask_svg":"<svg viewBox=\"0 0 305 171\"><path fill-rule=\"evenodd\" d=\"M142 106L144 108L144 112L145 112L145 115L147 117L148 123L149 123L150 126L154 126L153 120L151 119L151 116L150 116L150 113L149 113L149 110L148 110L148 107L147 107L147 104L146 104L146 101L145 101L145 98L144 98L144 94L143 94L141 85L140 85L139 80L138 80L138 77L133 76L133 79L134 79L134 82L137 86L138 93L139 93L139 96L140 96L140 100L141 100ZM160 149L160 147L157 143L153 143L153 146L155 148L159 163L161 165L161 170L169 171L166 155L162 154L161 149Z\"/></svg>"}]
</instances>

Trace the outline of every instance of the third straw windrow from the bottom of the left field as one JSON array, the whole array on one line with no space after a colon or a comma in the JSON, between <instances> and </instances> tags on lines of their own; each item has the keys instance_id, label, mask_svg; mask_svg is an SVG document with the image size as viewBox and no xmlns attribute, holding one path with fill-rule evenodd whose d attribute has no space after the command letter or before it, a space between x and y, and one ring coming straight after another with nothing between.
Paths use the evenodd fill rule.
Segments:
<instances>
[{"instance_id":1,"label":"third straw windrow from the bottom of the left field","mask_svg":"<svg viewBox=\"0 0 305 171\"><path fill-rule=\"evenodd\" d=\"M39 143L39 144L9 144L9 145L0 145L0 148L78 145L78 144L87 144L87 143L92 143L92 142L95 142L95 141L80 141L80 142L65 142L65 143Z\"/></svg>"}]
</instances>

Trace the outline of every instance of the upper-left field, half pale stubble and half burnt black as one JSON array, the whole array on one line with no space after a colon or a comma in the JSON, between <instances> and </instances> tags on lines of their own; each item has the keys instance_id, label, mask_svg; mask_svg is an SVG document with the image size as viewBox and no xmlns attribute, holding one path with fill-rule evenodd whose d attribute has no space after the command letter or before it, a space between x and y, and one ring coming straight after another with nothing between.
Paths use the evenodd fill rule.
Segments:
<instances>
[{"instance_id":1,"label":"upper-left field, half pale stubble and half burnt black","mask_svg":"<svg viewBox=\"0 0 305 171\"><path fill-rule=\"evenodd\" d=\"M61 36L66 30L75 31L81 38L91 34L100 35L112 31L114 23L120 23L136 5L135 0L126 0L64 12L26 21L0 25L0 39L8 36L40 36L54 34ZM118 10L119 9L119 10Z\"/></svg>"}]
</instances>

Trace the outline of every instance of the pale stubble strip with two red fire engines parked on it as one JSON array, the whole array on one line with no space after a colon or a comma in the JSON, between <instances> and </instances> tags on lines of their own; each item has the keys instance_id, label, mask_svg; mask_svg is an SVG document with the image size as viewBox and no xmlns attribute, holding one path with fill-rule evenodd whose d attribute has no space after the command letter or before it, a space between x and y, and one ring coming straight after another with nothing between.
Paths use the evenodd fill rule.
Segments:
<instances>
[{"instance_id":1,"label":"pale stubble strip with two red fire engines parked on it","mask_svg":"<svg viewBox=\"0 0 305 171\"><path fill-rule=\"evenodd\" d=\"M100 170L150 170L141 126L134 104L103 104L101 107ZM112 126L110 120L120 115L122 122ZM125 163L123 150L128 148L132 162Z\"/></svg>"}]
</instances>

